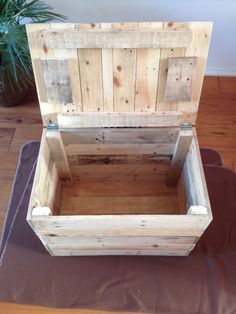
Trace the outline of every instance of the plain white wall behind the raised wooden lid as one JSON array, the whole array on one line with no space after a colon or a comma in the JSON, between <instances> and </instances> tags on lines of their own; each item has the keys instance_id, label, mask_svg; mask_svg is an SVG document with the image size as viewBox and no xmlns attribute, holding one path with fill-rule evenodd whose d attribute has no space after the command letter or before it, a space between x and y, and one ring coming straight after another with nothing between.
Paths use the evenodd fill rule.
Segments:
<instances>
[{"instance_id":1,"label":"plain white wall behind the raised wooden lid","mask_svg":"<svg viewBox=\"0 0 236 314\"><path fill-rule=\"evenodd\" d=\"M69 22L213 21L209 75L236 76L236 0L47 0Z\"/></svg>"}]
</instances>

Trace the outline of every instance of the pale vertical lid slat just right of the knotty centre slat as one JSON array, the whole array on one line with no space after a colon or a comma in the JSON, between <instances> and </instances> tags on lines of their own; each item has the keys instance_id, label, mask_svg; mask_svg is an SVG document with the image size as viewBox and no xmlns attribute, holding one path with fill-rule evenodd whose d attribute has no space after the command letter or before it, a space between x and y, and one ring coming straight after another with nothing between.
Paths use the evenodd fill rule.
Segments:
<instances>
[{"instance_id":1,"label":"pale vertical lid slat just right of the knotty centre slat","mask_svg":"<svg viewBox=\"0 0 236 314\"><path fill-rule=\"evenodd\" d=\"M138 23L137 29L162 28L162 23ZM155 110L161 49L137 49L135 111Z\"/></svg>"}]
</instances>

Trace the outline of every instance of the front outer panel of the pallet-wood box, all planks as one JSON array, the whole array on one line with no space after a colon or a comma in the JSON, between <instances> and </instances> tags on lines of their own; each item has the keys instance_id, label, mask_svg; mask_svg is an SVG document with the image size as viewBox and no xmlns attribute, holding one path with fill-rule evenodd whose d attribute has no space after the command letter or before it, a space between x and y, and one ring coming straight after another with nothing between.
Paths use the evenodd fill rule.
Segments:
<instances>
[{"instance_id":1,"label":"front outer panel of the pallet-wood box, all planks","mask_svg":"<svg viewBox=\"0 0 236 314\"><path fill-rule=\"evenodd\" d=\"M188 255L204 215L41 217L33 223L53 255Z\"/></svg>"}]
</instances>

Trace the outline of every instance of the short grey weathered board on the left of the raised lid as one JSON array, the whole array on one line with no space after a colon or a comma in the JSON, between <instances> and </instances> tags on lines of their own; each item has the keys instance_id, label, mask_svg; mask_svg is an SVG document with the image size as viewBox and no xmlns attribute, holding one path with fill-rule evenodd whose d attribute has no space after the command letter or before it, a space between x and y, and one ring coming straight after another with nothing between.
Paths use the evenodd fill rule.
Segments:
<instances>
[{"instance_id":1,"label":"short grey weathered board on the left of the raised lid","mask_svg":"<svg viewBox=\"0 0 236 314\"><path fill-rule=\"evenodd\" d=\"M47 101L64 104L72 101L69 65L66 59L41 59Z\"/></svg>"}]
</instances>

